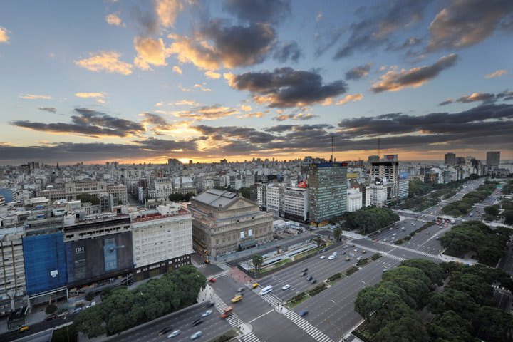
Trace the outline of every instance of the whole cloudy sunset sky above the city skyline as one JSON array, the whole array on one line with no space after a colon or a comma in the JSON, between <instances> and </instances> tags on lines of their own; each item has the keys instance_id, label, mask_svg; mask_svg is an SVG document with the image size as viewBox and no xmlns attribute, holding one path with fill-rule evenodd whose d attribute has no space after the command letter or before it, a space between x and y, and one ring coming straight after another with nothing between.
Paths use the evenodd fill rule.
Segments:
<instances>
[{"instance_id":1,"label":"whole cloudy sunset sky above the city skyline","mask_svg":"<svg viewBox=\"0 0 513 342\"><path fill-rule=\"evenodd\" d=\"M0 164L513 159L513 1L0 2Z\"/></svg>"}]
</instances>

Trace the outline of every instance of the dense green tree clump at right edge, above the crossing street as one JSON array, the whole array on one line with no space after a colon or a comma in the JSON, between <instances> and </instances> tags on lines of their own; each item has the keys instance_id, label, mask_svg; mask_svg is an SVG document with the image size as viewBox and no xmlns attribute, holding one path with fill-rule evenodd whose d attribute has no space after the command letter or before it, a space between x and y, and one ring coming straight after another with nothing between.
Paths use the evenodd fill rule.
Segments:
<instances>
[{"instance_id":1,"label":"dense green tree clump at right edge, above the crossing street","mask_svg":"<svg viewBox=\"0 0 513 342\"><path fill-rule=\"evenodd\" d=\"M504 227L491 229L480 221L457 224L440 239L445 254L462 257L475 252L480 263L495 266L507 249L511 231Z\"/></svg>"}]
</instances>

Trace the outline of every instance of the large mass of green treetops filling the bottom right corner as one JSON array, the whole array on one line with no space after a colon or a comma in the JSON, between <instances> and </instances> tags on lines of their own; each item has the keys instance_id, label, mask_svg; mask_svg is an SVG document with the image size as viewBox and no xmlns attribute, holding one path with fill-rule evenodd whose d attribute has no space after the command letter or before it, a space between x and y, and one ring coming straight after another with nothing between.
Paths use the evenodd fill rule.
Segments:
<instances>
[{"instance_id":1,"label":"large mass of green treetops filling the bottom right corner","mask_svg":"<svg viewBox=\"0 0 513 342\"><path fill-rule=\"evenodd\" d=\"M444 291L435 285L450 279ZM492 284L513 282L503 271L484 265L403 261L375 286L360 291L355 310L366 318L358 331L368 341L511 341L513 317L492 306ZM435 318L423 323L420 309Z\"/></svg>"}]
</instances>

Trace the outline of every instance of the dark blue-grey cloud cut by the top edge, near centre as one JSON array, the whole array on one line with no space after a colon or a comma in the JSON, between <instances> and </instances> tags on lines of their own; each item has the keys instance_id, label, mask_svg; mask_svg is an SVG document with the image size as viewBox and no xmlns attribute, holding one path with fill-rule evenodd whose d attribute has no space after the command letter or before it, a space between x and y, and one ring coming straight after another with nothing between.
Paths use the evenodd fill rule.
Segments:
<instances>
[{"instance_id":1,"label":"dark blue-grey cloud cut by the top edge, near centre","mask_svg":"<svg viewBox=\"0 0 513 342\"><path fill-rule=\"evenodd\" d=\"M223 8L242 21L276 23L290 14L290 1L225 0Z\"/></svg>"}]
</instances>

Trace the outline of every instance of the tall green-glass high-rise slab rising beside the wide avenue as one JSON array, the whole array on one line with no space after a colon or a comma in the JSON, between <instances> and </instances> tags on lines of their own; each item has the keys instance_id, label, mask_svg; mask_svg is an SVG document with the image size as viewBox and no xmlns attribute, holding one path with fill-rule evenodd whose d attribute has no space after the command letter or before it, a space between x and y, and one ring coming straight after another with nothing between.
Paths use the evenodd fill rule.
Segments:
<instances>
[{"instance_id":1,"label":"tall green-glass high-rise slab rising beside the wide avenue","mask_svg":"<svg viewBox=\"0 0 513 342\"><path fill-rule=\"evenodd\" d=\"M311 163L306 169L309 189L310 222L316 226L346 212L347 163Z\"/></svg>"}]
</instances>

